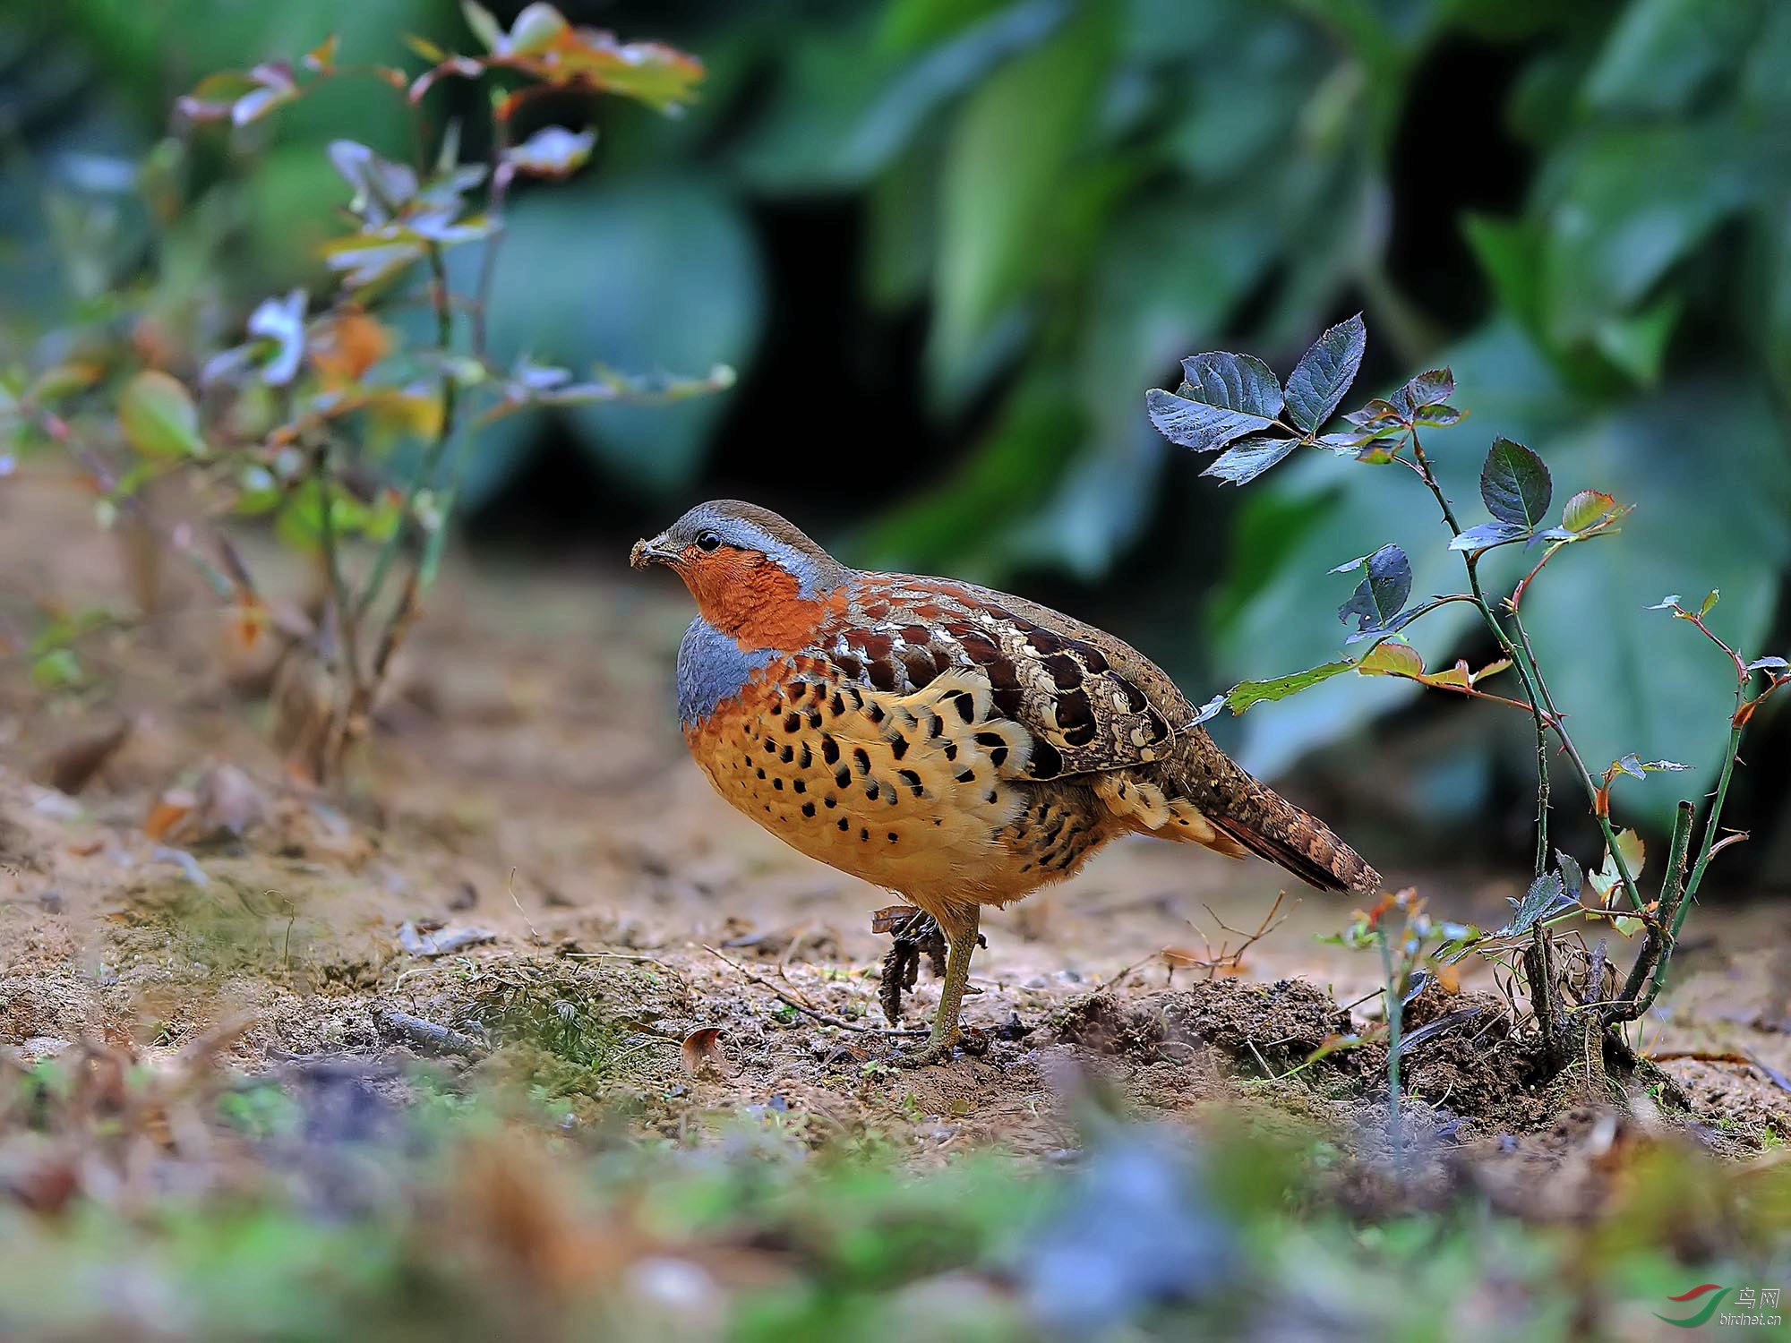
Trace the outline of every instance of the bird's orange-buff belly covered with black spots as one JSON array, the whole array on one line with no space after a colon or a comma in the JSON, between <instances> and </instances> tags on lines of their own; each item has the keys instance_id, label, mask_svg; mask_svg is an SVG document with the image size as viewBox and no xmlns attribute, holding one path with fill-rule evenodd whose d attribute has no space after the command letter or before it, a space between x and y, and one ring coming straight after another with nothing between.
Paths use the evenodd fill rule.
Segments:
<instances>
[{"instance_id":1,"label":"bird's orange-buff belly covered with black spots","mask_svg":"<svg viewBox=\"0 0 1791 1343\"><path fill-rule=\"evenodd\" d=\"M1024 777L1026 731L973 675L896 693L818 659L774 659L684 734L734 808L917 904L1019 899L1107 838L1066 800L1075 790Z\"/></svg>"}]
</instances>

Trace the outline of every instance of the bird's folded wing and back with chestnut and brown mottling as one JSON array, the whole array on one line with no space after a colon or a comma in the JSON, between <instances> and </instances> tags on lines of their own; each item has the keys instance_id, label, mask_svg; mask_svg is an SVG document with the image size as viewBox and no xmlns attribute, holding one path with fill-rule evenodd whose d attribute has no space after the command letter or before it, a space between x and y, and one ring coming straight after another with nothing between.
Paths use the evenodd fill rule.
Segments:
<instances>
[{"instance_id":1,"label":"bird's folded wing and back with chestnut and brown mottling","mask_svg":"<svg viewBox=\"0 0 1791 1343\"><path fill-rule=\"evenodd\" d=\"M1035 741L1032 779L1166 759L1171 723L1193 716L1173 682L1112 636L944 578L865 575L815 652L876 689L919 689L947 670L981 672L994 709Z\"/></svg>"}]
</instances>

